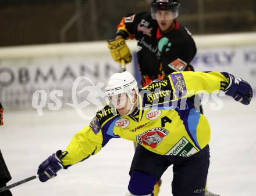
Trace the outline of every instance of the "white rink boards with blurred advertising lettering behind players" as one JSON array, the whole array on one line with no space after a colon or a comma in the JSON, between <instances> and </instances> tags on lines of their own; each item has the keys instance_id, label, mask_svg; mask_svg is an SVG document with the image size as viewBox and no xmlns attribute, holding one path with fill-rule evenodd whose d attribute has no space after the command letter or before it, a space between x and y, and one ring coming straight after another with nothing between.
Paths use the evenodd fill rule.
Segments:
<instances>
[{"instance_id":1,"label":"white rink boards with blurred advertising lettering behind players","mask_svg":"<svg viewBox=\"0 0 256 196\"><path fill-rule=\"evenodd\" d=\"M198 53L196 71L227 71L246 79L256 89L256 32L194 36ZM127 41L132 52L136 42ZM134 63L127 65L133 72ZM120 71L106 42L65 43L0 48L0 100L5 107L31 107L34 90L60 89L69 102L74 79L105 83Z\"/></svg>"}]
</instances>

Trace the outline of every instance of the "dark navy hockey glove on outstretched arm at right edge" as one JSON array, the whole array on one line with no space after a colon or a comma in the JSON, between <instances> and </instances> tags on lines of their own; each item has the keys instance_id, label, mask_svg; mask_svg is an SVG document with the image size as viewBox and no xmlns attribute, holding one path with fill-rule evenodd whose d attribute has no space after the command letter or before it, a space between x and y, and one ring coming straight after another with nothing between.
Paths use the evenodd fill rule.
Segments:
<instances>
[{"instance_id":1,"label":"dark navy hockey glove on outstretched arm at right edge","mask_svg":"<svg viewBox=\"0 0 256 196\"><path fill-rule=\"evenodd\" d=\"M222 72L226 78L229 78L229 85L225 89L226 95L232 96L234 100L248 105L253 98L253 89L248 82L227 72Z\"/></svg>"}]
</instances>

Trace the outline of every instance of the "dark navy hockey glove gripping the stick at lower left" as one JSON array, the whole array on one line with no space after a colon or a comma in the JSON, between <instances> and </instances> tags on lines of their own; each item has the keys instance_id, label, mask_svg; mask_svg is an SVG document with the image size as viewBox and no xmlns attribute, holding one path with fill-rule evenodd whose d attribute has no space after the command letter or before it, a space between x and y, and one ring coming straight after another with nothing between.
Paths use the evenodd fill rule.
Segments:
<instances>
[{"instance_id":1,"label":"dark navy hockey glove gripping the stick at lower left","mask_svg":"<svg viewBox=\"0 0 256 196\"><path fill-rule=\"evenodd\" d=\"M60 169L65 168L62 165L61 159L58 155L61 155L61 150L58 150L56 154L49 156L41 165L38 167L37 174L41 182L46 182L51 177L57 176L57 172Z\"/></svg>"}]
</instances>

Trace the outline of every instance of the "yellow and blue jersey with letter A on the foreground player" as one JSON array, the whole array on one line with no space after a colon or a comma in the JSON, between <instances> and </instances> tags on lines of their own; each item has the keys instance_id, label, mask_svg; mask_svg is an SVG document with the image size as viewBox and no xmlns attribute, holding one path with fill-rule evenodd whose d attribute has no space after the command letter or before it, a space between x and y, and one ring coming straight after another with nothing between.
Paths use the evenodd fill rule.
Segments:
<instances>
[{"instance_id":1,"label":"yellow and blue jersey with letter A on the foreground player","mask_svg":"<svg viewBox=\"0 0 256 196\"><path fill-rule=\"evenodd\" d=\"M221 72L190 71L153 81L140 90L136 115L121 116L111 104L98 111L63 152L63 165L83 161L119 137L161 155L187 157L197 153L209 143L211 130L207 118L186 98L202 90L224 90L228 82Z\"/></svg>"}]
</instances>

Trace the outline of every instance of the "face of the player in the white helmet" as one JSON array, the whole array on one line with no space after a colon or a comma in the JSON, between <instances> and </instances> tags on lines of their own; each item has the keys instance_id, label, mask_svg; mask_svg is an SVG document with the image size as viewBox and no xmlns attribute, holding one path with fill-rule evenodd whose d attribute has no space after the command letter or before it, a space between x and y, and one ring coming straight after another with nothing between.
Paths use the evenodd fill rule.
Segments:
<instances>
[{"instance_id":1,"label":"face of the player in the white helmet","mask_svg":"<svg viewBox=\"0 0 256 196\"><path fill-rule=\"evenodd\" d=\"M111 96L110 100L120 115L126 115L130 111L131 101L126 93Z\"/></svg>"}]
</instances>

